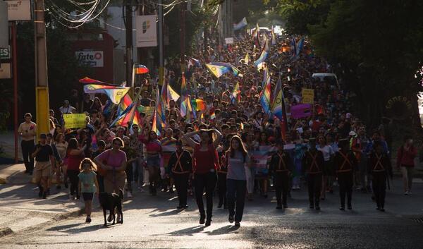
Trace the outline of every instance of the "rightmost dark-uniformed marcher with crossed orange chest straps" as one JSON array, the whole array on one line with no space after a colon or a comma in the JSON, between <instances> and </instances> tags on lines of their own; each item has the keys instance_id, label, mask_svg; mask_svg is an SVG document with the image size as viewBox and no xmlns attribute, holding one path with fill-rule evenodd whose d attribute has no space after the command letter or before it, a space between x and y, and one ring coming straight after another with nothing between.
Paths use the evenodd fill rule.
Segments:
<instances>
[{"instance_id":1,"label":"rightmost dark-uniformed marcher with crossed orange chest straps","mask_svg":"<svg viewBox=\"0 0 423 249\"><path fill-rule=\"evenodd\" d=\"M389 174L392 178L392 165L388 154L384 152L384 145L375 141L374 151L370 154L367 161L367 173L372 175L372 188L376 200L376 209L385 212L386 195L386 176Z\"/></svg>"}]
</instances>

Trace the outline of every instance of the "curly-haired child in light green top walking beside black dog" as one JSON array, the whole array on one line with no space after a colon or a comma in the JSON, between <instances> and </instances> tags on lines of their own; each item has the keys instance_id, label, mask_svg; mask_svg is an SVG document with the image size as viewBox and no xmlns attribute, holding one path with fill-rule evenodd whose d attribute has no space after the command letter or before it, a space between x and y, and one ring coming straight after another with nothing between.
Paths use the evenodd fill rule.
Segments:
<instances>
[{"instance_id":1,"label":"curly-haired child in light green top walking beside black dog","mask_svg":"<svg viewBox=\"0 0 423 249\"><path fill-rule=\"evenodd\" d=\"M94 193L99 193L99 183L97 182L97 175L94 171L97 171L97 165L91 161L90 158L85 158L80 164L80 179L78 190L82 193L82 198L85 202L85 214L87 219L85 222L91 222L91 211L92 211L92 200L94 199Z\"/></svg>"}]
</instances>

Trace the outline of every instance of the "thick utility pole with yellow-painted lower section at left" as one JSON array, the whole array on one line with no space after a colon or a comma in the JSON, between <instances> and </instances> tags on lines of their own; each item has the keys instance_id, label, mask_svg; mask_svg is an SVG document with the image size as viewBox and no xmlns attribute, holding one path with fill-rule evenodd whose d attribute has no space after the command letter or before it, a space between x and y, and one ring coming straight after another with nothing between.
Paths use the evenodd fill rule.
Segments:
<instances>
[{"instance_id":1,"label":"thick utility pole with yellow-painted lower section at left","mask_svg":"<svg viewBox=\"0 0 423 249\"><path fill-rule=\"evenodd\" d=\"M37 138L48 133L49 83L47 78L46 25L44 23L44 0L35 0L35 102L37 107Z\"/></svg>"}]
</instances>

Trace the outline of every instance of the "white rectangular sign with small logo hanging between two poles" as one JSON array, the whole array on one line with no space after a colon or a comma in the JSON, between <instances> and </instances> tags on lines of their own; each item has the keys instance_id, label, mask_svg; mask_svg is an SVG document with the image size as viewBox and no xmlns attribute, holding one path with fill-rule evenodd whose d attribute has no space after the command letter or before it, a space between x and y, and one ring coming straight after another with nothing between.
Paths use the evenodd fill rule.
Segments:
<instances>
[{"instance_id":1,"label":"white rectangular sign with small logo hanging between two poles","mask_svg":"<svg viewBox=\"0 0 423 249\"><path fill-rule=\"evenodd\" d=\"M156 15L135 16L137 47L157 46Z\"/></svg>"}]
</instances>

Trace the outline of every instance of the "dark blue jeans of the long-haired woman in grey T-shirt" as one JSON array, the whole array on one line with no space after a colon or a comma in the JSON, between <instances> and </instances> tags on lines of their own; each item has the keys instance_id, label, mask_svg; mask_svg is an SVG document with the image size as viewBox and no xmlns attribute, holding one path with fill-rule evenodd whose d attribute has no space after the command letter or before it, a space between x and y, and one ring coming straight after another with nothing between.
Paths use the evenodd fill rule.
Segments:
<instances>
[{"instance_id":1,"label":"dark blue jeans of the long-haired woman in grey T-shirt","mask_svg":"<svg viewBox=\"0 0 423 249\"><path fill-rule=\"evenodd\" d=\"M240 222L243 219L247 181L228 179L226 186L229 216L235 216L235 222Z\"/></svg>"}]
</instances>

